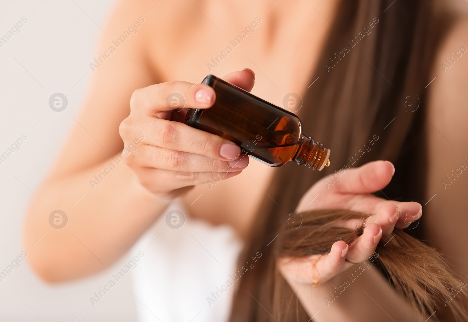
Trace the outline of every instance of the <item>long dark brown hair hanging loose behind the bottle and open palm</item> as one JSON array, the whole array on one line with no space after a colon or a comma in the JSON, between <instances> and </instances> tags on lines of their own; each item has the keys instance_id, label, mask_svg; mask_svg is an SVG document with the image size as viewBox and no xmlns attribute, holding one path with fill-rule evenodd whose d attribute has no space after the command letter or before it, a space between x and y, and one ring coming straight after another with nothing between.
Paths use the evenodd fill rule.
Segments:
<instances>
[{"instance_id":1,"label":"long dark brown hair hanging loose behind the bottle and open palm","mask_svg":"<svg viewBox=\"0 0 468 322\"><path fill-rule=\"evenodd\" d=\"M275 263L269 243L284 216L294 212L303 194L322 176L345 165L388 160L395 164L396 172L384 190L385 196L422 201L424 87L442 34L430 3L342 1L333 22L339 31L330 28L310 81L315 82L307 89L298 113L304 133L312 133L316 141L333 148L332 165L318 172L289 162L276 170L267 191L271 198L263 199L239 263L245 263L257 251L265 257L255 270L242 276L230 321L271 319L265 313L265 309L273 311ZM367 30L372 32L367 35ZM378 139L366 147L373 138ZM307 317L300 305L297 314Z\"/></svg>"}]
</instances>

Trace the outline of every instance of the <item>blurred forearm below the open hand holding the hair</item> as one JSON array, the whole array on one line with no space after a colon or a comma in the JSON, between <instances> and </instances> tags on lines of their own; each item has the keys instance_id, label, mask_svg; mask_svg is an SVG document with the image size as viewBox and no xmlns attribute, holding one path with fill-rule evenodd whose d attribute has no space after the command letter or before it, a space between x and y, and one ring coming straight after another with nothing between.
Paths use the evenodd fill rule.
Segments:
<instances>
[{"instance_id":1,"label":"blurred forearm below the open hand holding the hair","mask_svg":"<svg viewBox=\"0 0 468 322\"><path fill-rule=\"evenodd\" d=\"M369 263L356 264L318 287L296 284L292 288L315 322L420 321Z\"/></svg>"}]
</instances>

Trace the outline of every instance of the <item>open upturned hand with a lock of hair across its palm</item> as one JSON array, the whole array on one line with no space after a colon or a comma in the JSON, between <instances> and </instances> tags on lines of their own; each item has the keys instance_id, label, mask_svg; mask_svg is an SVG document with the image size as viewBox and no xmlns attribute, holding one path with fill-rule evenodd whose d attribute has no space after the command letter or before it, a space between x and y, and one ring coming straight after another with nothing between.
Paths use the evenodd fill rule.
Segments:
<instances>
[{"instance_id":1,"label":"open upturned hand with a lock of hair across its palm","mask_svg":"<svg viewBox=\"0 0 468 322\"><path fill-rule=\"evenodd\" d=\"M326 185L323 178L315 183L301 199L297 211L314 209L349 209L368 213L364 233L351 245L336 241L328 254L301 258L281 258L278 269L292 284L319 285L373 256L380 239L391 237L394 227L405 228L422 215L416 202L397 202L377 198L370 193L383 189L391 180L395 168L388 161L374 161L360 168L348 169ZM360 220L347 220L344 227L356 228ZM312 238L314 236L311 236Z\"/></svg>"}]
</instances>

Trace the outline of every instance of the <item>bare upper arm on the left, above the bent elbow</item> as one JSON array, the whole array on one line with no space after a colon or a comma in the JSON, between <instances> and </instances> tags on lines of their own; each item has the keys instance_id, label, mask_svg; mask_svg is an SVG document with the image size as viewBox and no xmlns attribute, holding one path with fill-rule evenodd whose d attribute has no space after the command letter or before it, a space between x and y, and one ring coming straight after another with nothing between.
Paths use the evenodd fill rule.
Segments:
<instances>
[{"instance_id":1,"label":"bare upper arm on the left, above the bent elbow","mask_svg":"<svg viewBox=\"0 0 468 322\"><path fill-rule=\"evenodd\" d=\"M87 168L122 149L118 128L130 112L132 92L156 80L146 63L144 44L149 23L141 23L142 19L148 20L146 7L146 1L119 1L103 26L105 31L90 59L88 93L73 120L51 177ZM121 36L124 36L121 43L116 43ZM108 57L104 60L101 53Z\"/></svg>"}]
</instances>

